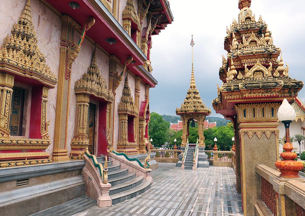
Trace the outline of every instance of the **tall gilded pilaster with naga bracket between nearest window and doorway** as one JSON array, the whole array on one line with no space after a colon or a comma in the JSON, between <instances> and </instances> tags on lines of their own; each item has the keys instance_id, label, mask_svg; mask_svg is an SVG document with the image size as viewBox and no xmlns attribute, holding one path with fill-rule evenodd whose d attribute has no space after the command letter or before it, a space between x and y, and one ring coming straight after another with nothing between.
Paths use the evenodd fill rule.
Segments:
<instances>
[{"instance_id":1,"label":"tall gilded pilaster with naga bracket between nearest window and doorway","mask_svg":"<svg viewBox=\"0 0 305 216\"><path fill-rule=\"evenodd\" d=\"M70 94L70 73L72 63L81 51L81 44L84 41L86 32L95 23L93 18L89 18L84 24L81 37L77 44L74 44L74 30L79 28L79 24L68 15L62 16L62 31L60 41L59 71L56 96L54 147L52 160L67 160L67 123L69 112Z\"/></svg>"}]
</instances>

